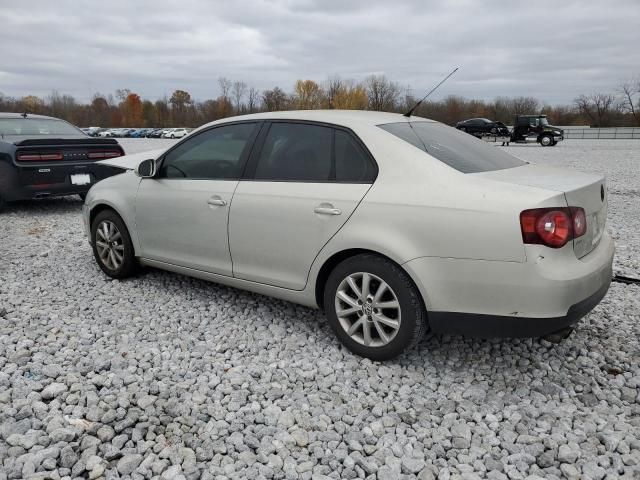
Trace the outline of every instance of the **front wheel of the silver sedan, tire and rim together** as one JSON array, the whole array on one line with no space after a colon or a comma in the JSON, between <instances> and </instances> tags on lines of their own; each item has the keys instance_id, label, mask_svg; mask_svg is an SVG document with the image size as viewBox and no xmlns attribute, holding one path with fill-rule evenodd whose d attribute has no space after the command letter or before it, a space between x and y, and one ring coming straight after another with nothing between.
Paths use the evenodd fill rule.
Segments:
<instances>
[{"instance_id":1,"label":"front wheel of the silver sedan, tire and rim together","mask_svg":"<svg viewBox=\"0 0 640 480\"><path fill-rule=\"evenodd\" d=\"M101 232L98 232L98 229ZM106 230L105 230L106 229ZM114 231L115 229L115 231ZM119 235L117 235L119 234ZM113 256L101 249L98 242L109 243L106 252L112 251ZM91 224L91 243L93 256L100 269L111 278L123 279L133 276L137 271L137 261L131 236L120 216L113 210L103 210L98 213ZM121 260L119 260L119 255Z\"/></svg>"}]
</instances>

